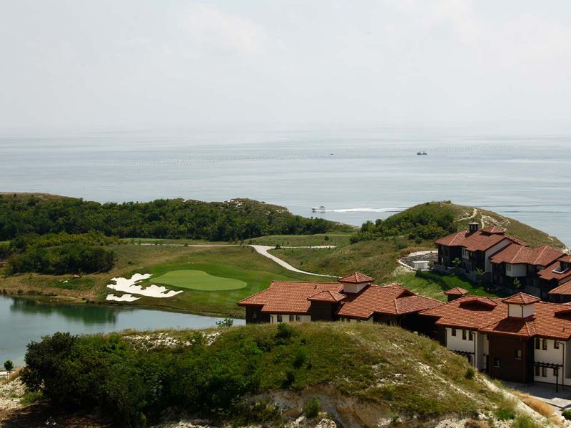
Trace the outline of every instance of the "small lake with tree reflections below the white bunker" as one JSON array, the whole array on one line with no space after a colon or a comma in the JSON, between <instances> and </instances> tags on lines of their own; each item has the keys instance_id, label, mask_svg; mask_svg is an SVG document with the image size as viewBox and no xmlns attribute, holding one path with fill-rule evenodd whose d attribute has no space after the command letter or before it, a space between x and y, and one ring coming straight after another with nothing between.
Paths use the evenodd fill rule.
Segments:
<instances>
[{"instance_id":1,"label":"small lake with tree reflections below the white bunker","mask_svg":"<svg viewBox=\"0 0 571 428\"><path fill-rule=\"evenodd\" d=\"M39 305L27 298L0 296L0 367L6 360L14 361L16 366L23 365L26 345L54 332L82 335L128 328L206 328L216 327L216 321L221 319L125 307ZM234 320L234 325L244 323L244 320Z\"/></svg>"}]
</instances>

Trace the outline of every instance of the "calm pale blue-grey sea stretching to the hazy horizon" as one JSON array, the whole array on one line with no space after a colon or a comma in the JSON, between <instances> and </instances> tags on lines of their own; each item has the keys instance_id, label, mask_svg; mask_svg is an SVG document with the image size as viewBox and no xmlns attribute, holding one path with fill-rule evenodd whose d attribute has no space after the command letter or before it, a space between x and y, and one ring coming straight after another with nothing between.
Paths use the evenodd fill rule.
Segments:
<instances>
[{"instance_id":1,"label":"calm pale blue-grey sea stretching to the hazy horizon","mask_svg":"<svg viewBox=\"0 0 571 428\"><path fill-rule=\"evenodd\" d=\"M452 200L570 244L570 149L571 133L481 128L4 132L0 191L100 202L253 198L353 225ZM312 213L319 205L327 211Z\"/></svg>"}]
</instances>

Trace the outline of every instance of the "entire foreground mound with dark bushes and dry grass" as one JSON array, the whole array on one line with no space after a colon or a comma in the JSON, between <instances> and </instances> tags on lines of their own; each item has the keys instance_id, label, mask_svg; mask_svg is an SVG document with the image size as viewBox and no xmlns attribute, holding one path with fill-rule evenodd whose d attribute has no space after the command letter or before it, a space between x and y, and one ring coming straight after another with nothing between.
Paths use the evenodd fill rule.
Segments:
<instances>
[{"instance_id":1,"label":"entire foreground mound with dark bushes and dry grass","mask_svg":"<svg viewBox=\"0 0 571 428\"><path fill-rule=\"evenodd\" d=\"M365 426L387 418L420 427L449 415L492 417L506 406L515 417L513 404L490 389L465 358L385 325L57 333L29 345L21 379L54 410L98 409L121 426L157 422L167 408L216 422L280 426L281 409L259 401L266 392L280 391L315 394L329 412L340 403L363 404L366 414L355 413ZM354 426L350 412L337 413L338 422Z\"/></svg>"}]
</instances>

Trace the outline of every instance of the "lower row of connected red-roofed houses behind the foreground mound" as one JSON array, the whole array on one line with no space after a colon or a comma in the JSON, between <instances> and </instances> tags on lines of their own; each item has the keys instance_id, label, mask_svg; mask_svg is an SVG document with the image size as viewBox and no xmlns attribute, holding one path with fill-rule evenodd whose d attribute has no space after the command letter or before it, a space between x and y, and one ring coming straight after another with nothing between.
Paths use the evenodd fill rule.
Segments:
<instances>
[{"instance_id":1,"label":"lower row of connected red-roofed houses behind the foreground mound","mask_svg":"<svg viewBox=\"0 0 571 428\"><path fill-rule=\"evenodd\" d=\"M455 288L448 302L358 272L338 282L274 281L238 302L246 322L382 322L439 340L478 370L512 382L571 385L571 305L518 292L500 299Z\"/></svg>"}]
</instances>

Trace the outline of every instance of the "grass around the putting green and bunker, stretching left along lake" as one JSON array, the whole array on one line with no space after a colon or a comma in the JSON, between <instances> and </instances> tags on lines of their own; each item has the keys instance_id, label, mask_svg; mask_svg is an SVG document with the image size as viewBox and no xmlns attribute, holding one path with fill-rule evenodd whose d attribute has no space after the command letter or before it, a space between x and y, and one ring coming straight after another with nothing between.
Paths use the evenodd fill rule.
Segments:
<instances>
[{"instance_id":1,"label":"grass around the putting green and bunker, stretching left along lake","mask_svg":"<svg viewBox=\"0 0 571 428\"><path fill-rule=\"evenodd\" d=\"M0 289L26 294L41 291L55 293L69 301L96 300L103 302L111 277L126 277L133 273L152 273L154 277L168 270L196 269L221 277L244 281L247 287L226 291L186 290L168 299L143 297L134 305L158 307L183 312L243 316L236 302L268 287L272 280L323 281L322 277L298 274L264 258L249 247L191 248L162 245L115 245L116 266L111 272L85 275L77 280L69 276L24 274L0 278ZM64 283L64 280L69 282ZM149 282L149 281L147 281ZM151 283L152 280L149 282ZM175 287L171 287L175 288ZM117 303L133 306L133 303Z\"/></svg>"}]
</instances>

